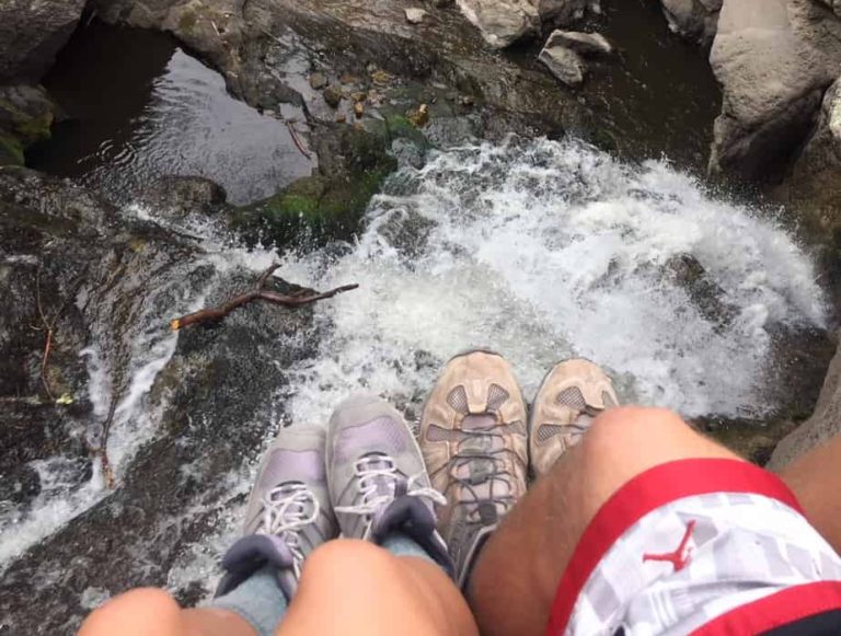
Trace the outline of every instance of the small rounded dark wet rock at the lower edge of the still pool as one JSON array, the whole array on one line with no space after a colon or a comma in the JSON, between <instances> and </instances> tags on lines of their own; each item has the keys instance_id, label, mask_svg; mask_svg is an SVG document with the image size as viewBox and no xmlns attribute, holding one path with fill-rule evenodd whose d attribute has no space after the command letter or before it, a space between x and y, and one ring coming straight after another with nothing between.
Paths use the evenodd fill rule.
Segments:
<instances>
[{"instance_id":1,"label":"small rounded dark wet rock at the lower edge of the still pool","mask_svg":"<svg viewBox=\"0 0 841 636\"><path fill-rule=\"evenodd\" d=\"M228 195L218 183L200 176L165 176L139 197L138 203L155 215L182 219L191 215L215 215Z\"/></svg>"}]
</instances>

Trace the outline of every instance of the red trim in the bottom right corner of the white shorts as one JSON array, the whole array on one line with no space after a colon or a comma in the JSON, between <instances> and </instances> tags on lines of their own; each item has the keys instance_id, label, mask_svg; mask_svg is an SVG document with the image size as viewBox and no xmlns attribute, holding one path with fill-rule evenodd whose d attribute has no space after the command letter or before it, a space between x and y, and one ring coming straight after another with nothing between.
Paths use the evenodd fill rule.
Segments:
<instances>
[{"instance_id":1,"label":"red trim in the bottom right corner of the white shorts","mask_svg":"<svg viewBox=\"0 0 841 636\"><path fill-rule=\"evenodd\" d=\"M804 583L730 610L692 632L692 636L761 634L838 609L841 581Z\"/></svg>"}]
</instances>

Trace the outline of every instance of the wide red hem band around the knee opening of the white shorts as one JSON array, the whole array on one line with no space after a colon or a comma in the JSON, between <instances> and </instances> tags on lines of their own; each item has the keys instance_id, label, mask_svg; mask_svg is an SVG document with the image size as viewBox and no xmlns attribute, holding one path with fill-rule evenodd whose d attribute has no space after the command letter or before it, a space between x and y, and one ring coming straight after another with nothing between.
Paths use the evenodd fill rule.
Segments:
<instances>
[{"instance_id":1,"label":"wide red hem band around the knee opening of the white shorts","mask_svg":"<svg viewBox=\"0 0 841 636\"><path fill-rule=\"evenodd\" d=\"M634 523L672 501L711 493L762 495L803 513L794 494L780 477L748 462L679 460L655 466L617 490L590 521L561 578L546 634L552 636L566 629L578 594L596 566Z\"/></svg>"}]
</instances>

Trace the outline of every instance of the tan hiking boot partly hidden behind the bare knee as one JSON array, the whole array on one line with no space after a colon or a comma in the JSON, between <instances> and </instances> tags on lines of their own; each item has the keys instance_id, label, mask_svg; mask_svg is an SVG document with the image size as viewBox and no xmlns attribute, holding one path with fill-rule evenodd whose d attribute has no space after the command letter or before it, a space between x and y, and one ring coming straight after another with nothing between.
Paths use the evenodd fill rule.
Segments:
<instances>
[{"instance_id":1,"label":"tan hiking boot partly hidden behind the bare knee","mask_svg":"<svg viewBox=\"0 0 841 636\"><path fill-rule=\"evenodd\" d=\"M592 420L619 405L613 383L589 360L561 362L543 380L529 423L529 453L534 476L549 471L574 447Z\"/></svg>"}]
</instances>

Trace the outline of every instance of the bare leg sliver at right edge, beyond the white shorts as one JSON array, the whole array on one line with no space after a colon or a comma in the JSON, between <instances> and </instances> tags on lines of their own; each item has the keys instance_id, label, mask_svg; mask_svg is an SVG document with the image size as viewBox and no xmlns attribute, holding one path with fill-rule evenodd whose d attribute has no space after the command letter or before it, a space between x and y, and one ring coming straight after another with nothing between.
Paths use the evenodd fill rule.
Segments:
<instances>
[{"instance_id":1,"label":"bare leg sliver at right edge, beyond the white shorts","mask_svg":"<svg viewBox=\"0 0 841 636\"><path fill-rule=\"evenodd\" d=\"M797 496L806 518L841 553L841 436L797 458L780 476Z\"/></svg>"}]
</instances>

